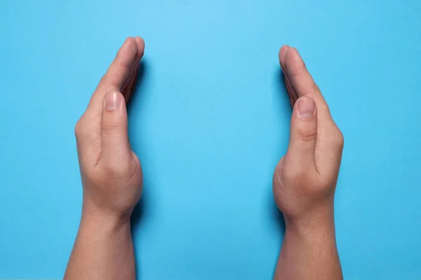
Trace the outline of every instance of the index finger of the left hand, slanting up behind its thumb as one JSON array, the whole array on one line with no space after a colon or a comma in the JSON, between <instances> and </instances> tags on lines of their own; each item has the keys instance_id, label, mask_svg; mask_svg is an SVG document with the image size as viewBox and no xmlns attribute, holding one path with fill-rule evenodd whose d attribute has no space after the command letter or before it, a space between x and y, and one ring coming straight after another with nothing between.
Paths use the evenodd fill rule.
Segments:
<instances>
[{"instance_id":1,"label":"index finger of the left hand, slanting up behind its thumb","mask_svg":"<svg viewBox=\"0 0 421 280\"><path fill-rule=\"evenodd\" d=\"M91 97L86 113L100 116L102 101L109 90L121 91L121 86L129 78L135 57L138 54L138 44L135 38L128 37L117 52L114 61L109 66L107 73L101 78L98 87Z\"/></svg>"}]
</instances>

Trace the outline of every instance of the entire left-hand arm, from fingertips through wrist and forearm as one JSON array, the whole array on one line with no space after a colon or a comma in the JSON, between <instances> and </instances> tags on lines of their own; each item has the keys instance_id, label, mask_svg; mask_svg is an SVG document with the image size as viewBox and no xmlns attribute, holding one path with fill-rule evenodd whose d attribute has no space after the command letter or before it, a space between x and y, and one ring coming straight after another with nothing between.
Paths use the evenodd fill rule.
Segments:
<instances>
[{"instance_id":1,"label":"entire left-hand arm, from fingertips through wrist and forearm","mask_svg":"<svg viewBox=\"0 0 421 280\"><path fill-rule=\"evenodd\" d=\"M142 38L126 39L76 124L83 206L65 280L135 279L130 216L142 169L128 141L126 102L144 49Z\"/></svg>"}]
</instances>

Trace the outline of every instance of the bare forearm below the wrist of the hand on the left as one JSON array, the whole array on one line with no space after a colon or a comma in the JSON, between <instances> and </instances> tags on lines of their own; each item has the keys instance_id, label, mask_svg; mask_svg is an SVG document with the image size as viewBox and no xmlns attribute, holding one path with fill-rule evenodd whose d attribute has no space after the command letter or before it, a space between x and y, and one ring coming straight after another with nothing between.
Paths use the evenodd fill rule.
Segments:
<instances>
[{"instance_id":1,"label":"bare forearm below the wrist of the hand on the left","mask_svg":"<svg viewBox=\"0 0 421 280\"><path fill-rule=\"evenodd\" d=\"M134 280L130 218L83 214L64 279Z\"/></svg>"}]
</instances>

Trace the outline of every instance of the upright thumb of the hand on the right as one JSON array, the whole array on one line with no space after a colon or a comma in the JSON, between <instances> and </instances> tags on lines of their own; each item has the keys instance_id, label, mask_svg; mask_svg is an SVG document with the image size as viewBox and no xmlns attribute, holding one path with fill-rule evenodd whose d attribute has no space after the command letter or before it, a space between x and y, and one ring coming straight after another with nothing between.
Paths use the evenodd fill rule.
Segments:
<instances>
[{"instance_id":1,"label":"upright thumb of the hand on the right","mask_svg":"<svg viewBox=\"0 0 421 280\"><path fill-rule=\"evenodd\" d=\"M314 166L317 135L316 102L311 97L300 97L293 109L287 158L295 167Z\"/></svg>"}]
</instances>

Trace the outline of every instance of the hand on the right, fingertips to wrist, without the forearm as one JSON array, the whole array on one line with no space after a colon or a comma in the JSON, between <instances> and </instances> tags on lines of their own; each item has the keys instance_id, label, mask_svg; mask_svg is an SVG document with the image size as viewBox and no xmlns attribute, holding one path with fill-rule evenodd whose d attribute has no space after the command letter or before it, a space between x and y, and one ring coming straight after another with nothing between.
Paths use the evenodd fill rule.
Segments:
<instances>
[{"instance_id":1,"label":"hand on the right, fingertips to wrist, without the forearm","mask_svg":"<svg viewBox=\"0 0 421 280\"><path fill-rule=\"evenodd\" d=\"M316 225L333 219L344 140L298 51L284 45L279 60L293 113L288 151L274 172L274 197L287 227Z\"/></svg>"}]
</instances>

